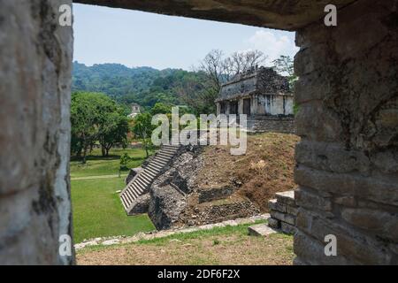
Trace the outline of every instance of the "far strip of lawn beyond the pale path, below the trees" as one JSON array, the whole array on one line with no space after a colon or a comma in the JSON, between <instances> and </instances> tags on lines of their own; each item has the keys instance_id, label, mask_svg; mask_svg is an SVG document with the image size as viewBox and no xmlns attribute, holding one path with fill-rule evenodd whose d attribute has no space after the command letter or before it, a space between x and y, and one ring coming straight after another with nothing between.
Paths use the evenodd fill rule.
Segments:
<instances>
[{"instance_id":1,"label":"far strip of lawn beyond the pale path, below the trees","mask_svg":"<svg viewBox=\"0 0 398 283\"><path fill-rule=\"evenodd\" d=\"M131 158L129 168L140 166L146 157L143 149L111 149L109 157L102 157L101 149L94 149L86 164L81 164L79 160L71 161L71 178L119 174L120 157L125 153ZM124 175L127 173L122 172Z\"/></svg>"}]
</instances>

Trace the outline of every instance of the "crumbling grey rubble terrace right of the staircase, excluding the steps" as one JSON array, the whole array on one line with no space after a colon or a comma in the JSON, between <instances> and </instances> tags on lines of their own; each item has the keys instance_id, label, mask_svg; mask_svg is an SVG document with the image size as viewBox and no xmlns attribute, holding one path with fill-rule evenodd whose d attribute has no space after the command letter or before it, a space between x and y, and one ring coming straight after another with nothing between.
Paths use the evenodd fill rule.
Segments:
<instances>
[{"instance_id":1,"label":"crumbling grey rubble terrace right of the staircase, excluding the steps","mask_svg":"<svg viewBox=\"0 0 398 283\"><path fill-rule=\"evenodd\" d=\"M233 194L236 187L204 190L198 186L202 150L200 146L180 147L167 170L150 187L148 214L157 229L201 226L260 213L247 197Z\"/></svg>"}]
</instances>

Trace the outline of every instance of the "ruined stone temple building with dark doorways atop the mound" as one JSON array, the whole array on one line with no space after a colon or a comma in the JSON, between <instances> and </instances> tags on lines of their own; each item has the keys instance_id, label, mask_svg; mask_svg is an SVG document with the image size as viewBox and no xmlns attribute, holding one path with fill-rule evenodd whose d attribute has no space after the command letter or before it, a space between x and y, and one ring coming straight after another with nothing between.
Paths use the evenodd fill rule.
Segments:
<instances>
[{"instance_id":1,"label":"ruined stone temple building with dark doorways atop the mound","mask_svg":"<svg viewBox=\"0 0 398 283\"><path fill-rule=\"evenodd\" d=\"M295 132L293 93L287 78L272 68L239 73L222 86L216 104L218 115L248 115L249 132Z\"/></svg>"}]
</instances>

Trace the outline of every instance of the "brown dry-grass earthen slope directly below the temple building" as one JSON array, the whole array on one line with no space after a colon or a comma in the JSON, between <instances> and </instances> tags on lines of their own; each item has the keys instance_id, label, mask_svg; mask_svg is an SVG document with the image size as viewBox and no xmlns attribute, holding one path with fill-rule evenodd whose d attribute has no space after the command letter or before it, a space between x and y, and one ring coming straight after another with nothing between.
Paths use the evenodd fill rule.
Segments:
<instances>
[{"instance_id":1,"label":"brown dry-grass earthen slope directly below the temple building","mask_svg":"<svg viewBox=\"0 0 398 283\"><path fill-rule=\"evenodd\" d=\"M262 211L276 192L295 189L295 134L250 134L247 152L232 156L228 146L210 146L203 153L204 166L197 183L203 189L235 187Z\"/></svg>"}]
</instances>

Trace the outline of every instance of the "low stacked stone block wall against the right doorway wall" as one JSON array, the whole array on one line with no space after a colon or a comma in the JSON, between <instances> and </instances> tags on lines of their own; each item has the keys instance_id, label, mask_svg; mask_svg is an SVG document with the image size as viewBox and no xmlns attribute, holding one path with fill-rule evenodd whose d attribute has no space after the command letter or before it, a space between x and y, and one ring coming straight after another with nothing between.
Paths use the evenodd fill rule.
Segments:
<instances>
[{"instance_id":1,"label":"low stacked stone block wall against the right doorway wall","mask_svg":"<svg viewBox=\"0 0 398 283\"><path fill-rule=\"evenodd\" d=\"M268 226L280 229L283 233L295 233L295 219L298 207L295 204L295 191L287 191L275 194L276 199L270 200L268 207L271 210L271 218Z\"/></svg>"}]
</instances>

